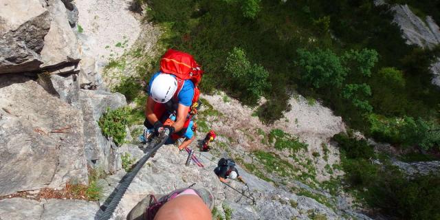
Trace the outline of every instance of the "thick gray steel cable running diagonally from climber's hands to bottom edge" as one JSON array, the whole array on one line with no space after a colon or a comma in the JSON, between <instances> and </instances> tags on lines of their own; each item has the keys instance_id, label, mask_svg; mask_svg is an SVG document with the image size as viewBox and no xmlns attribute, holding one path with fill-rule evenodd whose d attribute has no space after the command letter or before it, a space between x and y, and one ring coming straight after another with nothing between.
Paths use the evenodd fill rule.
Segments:
<instances>
[{"instance_id":1,"label":"thick gray steel cable running diagonally from climber's hands to bottom edge","mask_svg":"<svg viewBox=\"0 0 440 220\"><path fill-rule=\"evenodd\" d=\"M146 161L151 157L151 155L154 155L156 151L168 140L170 131L168 129L164 129L157 137L155 137L154 140L151 141L149 144L153 145L151 148L152 150L148 152L146 155L144 155L139 161L137 161L136 166L131 170L130 173L127 173L125 177L123 178L122 182L115 188L116 193L113 196L113 199L111 199L109 205L104 210L104 212L100 215L99 220L108 220L111 218L113 212L115 211L115 208L118 206L118 203L124 196L124 193L129 188L131 181L135 178L139 170L144 166Z\"/></svg>"}]
</instances>

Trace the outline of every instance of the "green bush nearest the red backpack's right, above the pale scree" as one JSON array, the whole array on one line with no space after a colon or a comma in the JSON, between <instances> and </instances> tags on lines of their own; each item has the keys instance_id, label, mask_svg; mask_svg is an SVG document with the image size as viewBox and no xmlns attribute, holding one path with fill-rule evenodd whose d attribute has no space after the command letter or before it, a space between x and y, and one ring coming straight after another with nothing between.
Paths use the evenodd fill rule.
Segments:
<instances>
[{"instance_id":1,"label":"green bush nearest the red backpack's right, above the pale scree","mask_svg":"<svg viewBox=\"0 0 440 220\"><path fill-rule=\"evenodd\" d=\"M261 65L252 65L239 47L234 47L226 58L225 72L234 79L237 91L243 91L241 96L246 104L256 104L264 89L270 88L269 73Z\"/></svg>"}]
</instances>

